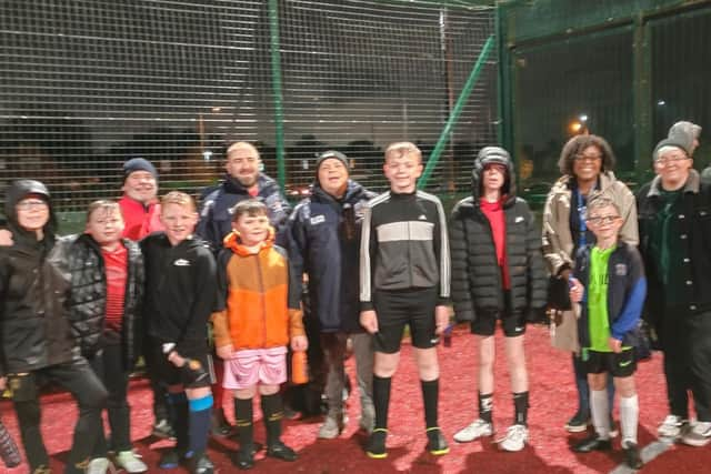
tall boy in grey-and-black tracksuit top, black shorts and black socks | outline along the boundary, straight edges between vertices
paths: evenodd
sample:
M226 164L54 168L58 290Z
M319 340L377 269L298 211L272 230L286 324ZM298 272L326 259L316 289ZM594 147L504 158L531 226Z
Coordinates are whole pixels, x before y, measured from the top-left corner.
M449 446L438 425L435 344L450 313L447 220L439 199L415 190L422 153L414 144L390 144L383 172L390 191L365 206L360 248L360 322L374 334L375 351L375 424L365 453L373 458L388 456L390 386L408 324L424 401L427 450L442 455Z

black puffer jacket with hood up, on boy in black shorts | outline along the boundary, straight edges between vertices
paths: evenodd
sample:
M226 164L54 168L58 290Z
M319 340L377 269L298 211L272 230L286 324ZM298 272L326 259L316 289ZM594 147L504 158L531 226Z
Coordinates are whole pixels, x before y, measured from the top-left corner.
M532 321L541 317L547 296L540 230L525 201L515 196L511 161L502 160L501 164L508 167L510 177L503 188L507 195L503 212L511 310ZM472 196L457 203L450 220L452 300L458 321L474 321L477 314L498 314L504 310L502 275L491 225L479 205L482 169L478 160L472 173Z

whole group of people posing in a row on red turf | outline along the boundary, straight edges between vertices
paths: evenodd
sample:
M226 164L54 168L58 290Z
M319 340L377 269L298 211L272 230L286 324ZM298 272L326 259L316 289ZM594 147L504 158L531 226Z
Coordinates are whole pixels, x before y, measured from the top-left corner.
M499 147L479 152L471 195L449 216L438 198L417 189L422 154L410 142L385 149L390 190L380 195L350 179L348 157L322 153L311 195L293 210L260 172L259 152L247 142L228 148L226 179L206 190L200 208L178 191L158 200L157 170L131 159L123 165L123 198L92 203L86 232L64 238L56 235L47 188L14 182L6 195L8 229L0 235L0 385L11 392L31 471L50 472L39 431L46 382L66 387L79 405L67 473L106 473L111 463L129 473L148 470L129 437L128 376L139 354L153 390L153 433L176 438L160 467L213 472L207 440L210 431L230 430L224 390L233 399L239 436L234 465L253 467L261 448L253 430L257 393L267 455L294 461L298 454L281 441L281 387L289 354L316 343L323 352L327 401L318 437L339 436L348 421L342 393L350 344L359 425L369 433L365 453L387 457L391 381L405 325L427 450L447 454L435 345L452 307L479 346L478 416L454 441L494 434L500 321L514 418L497 442L504 451L525 446L523 339L527 323L544 321L553 307L554 344L573 354L579 393L578 412L565 427L584 431L590 421L594 427L575 451L611 447L617 389L625 460L641 466L633 374L643 314L664 352L670 415L659 434L707 444L711 188L692 169L700 129L683 123L654 149L657 178L637 198L615 180L604 139L571 139L559 162L562 178L547 200L542 239L517 195L512 159ZM553 288L562 289L554 303ZM695 420L689 416L689 390Z

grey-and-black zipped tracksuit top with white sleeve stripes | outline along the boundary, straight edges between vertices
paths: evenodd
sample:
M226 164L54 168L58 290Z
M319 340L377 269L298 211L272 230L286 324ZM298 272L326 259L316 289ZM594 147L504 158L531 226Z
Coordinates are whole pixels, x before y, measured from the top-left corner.
M368 202L360 246L361 311L372 310L373 291L439 288L449 304L450 259L442 203L422 191L388 191Z

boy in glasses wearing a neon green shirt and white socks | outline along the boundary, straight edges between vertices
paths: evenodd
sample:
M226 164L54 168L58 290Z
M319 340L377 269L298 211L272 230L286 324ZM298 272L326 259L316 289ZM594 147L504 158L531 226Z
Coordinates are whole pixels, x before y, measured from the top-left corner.
M607 375L620 394L620 425L625 462L642 467L637 445L639 404L634 390L634 344L647 293L642 259L635 246L619 240L622 218L618 205L604 194L588 203L588 226L597 243L575 262L570 299L580 303L578 323L582 360L590 384L590 407L595 434L573 450L579 453L610 450L610 407Z

